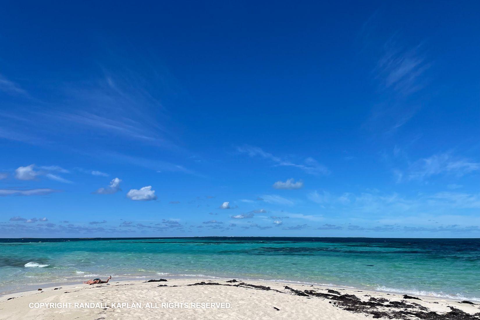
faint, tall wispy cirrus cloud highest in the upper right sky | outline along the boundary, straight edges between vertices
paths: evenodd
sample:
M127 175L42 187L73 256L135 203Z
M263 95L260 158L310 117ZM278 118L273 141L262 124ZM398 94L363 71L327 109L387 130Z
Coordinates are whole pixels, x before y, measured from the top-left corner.
M411 43L398 30L378 30L381 13L372 15L360 30L361 52L372 68L378 96L363 128L374 134L394 134L422 106L423 89L430 83L433 59L425 43ZM391 35L385 37L384 35Z

